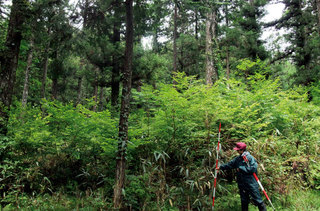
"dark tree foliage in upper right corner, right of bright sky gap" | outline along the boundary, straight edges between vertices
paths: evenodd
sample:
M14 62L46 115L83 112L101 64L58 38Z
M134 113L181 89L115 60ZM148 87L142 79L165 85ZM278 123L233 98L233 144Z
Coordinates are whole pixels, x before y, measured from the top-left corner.
M286 29L284 37L288 42L286 52L297 68L294 76L296 84L310 85L319 76L319 32L315 2L287 0L281 21L274 22L276 28ZM287 56L286 56L287 57Z

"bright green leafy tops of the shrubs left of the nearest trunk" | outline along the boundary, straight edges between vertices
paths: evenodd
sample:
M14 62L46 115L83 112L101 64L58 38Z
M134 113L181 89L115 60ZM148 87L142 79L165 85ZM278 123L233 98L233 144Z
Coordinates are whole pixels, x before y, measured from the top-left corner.
M112 148L116 124L108 111L95 113L82 105L74 108L73 104L49 101L44 101L41 109L16 109L19 110L12 111L9 122L14 130L9 135L14 135L16 144L24 145L26 150L28 146L32 147L30 150L41 150L42 146L51 145L57 151L71 150L79 157L82 150L97 150L97 144L105 150Z

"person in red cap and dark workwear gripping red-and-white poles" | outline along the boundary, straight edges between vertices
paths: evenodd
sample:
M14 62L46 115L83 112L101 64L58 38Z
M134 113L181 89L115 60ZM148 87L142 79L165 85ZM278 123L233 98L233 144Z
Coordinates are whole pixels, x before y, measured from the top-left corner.
M254 172L257 174L258 164L246 148L247 145L245 143L238 142L233 149L239 153L239 156L235 157L227 164L221 165L217 170L237 170L237 183L240 191L242 211L248 210L250 197L254 205L258 206L259 211L266 211L266 205L259 192L259 184L253 176ZM249 165L244 161L243 155L249 160Z

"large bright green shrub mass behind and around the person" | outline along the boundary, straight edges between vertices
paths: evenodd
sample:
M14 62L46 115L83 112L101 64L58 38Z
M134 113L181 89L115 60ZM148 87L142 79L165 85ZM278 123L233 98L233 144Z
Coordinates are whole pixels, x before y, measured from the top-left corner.
M157 150L168 154L167 170L163 164L161 170L171 179L164 200L187 206L190 197L194 208L210 206L206 197L212 187L212 149L216 142L211 136L216 136L219 122L223 124L222 145L228 155L223 155L223 160L231 159L229 149L235 141L248 143L266 170L260 175L271 195L285 194L298 184L317 187L314 161L319 160L319 148L315 128L320 110L307 102L304 89L284 91L279 88L279 80L266 80L260 74L248 77L247 85L221 80L211 88L184 74L177 74L175 80L174 87L161 85L153 91L154 96L152 88L145 87L139 97L141 102L153 99L143 108L153 118L146 122L142 117L142 124L133 126L147 135L141 140L153 140ZM150 161L152 154L142 152L138 157ZM297 169L292 168L294 163ZM306 166L313 170L305 171ZM174 190L182 192L176 194Z

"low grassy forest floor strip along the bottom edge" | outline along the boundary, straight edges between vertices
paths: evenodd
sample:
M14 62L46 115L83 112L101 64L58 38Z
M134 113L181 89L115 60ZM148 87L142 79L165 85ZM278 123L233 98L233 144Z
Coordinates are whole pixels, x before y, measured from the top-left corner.
M109 199L110 200L110 199ZM228 196L228 203L220 201L216 204L217 211L241 211L240 198L238 196ZM110 210L110 202L99 194L92 194L86 197L73 197L63 194L42 195L38 197L19 197L16 204L7 205L1 211L11 210ZM272 210L270 204L266 202L267 209ZM279 197L273 201L276 210L283 211L319 211L320 210L320 191L301 190L292 192L284 198ZM112 209L112 208L111 208ZM147 210L154 210L149 208ZM133 209L135 210L135 209ZM178 211L178 208L168 207L162 210ZM249 211L256 211L257 207L250 204Z

